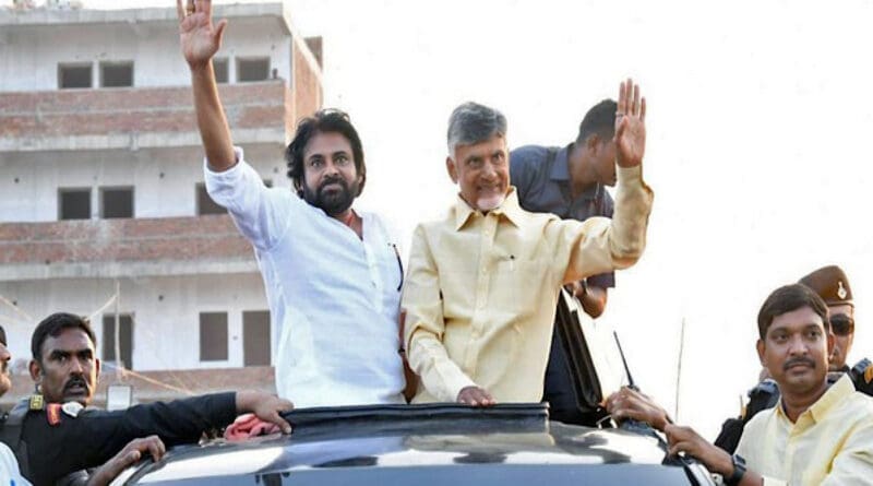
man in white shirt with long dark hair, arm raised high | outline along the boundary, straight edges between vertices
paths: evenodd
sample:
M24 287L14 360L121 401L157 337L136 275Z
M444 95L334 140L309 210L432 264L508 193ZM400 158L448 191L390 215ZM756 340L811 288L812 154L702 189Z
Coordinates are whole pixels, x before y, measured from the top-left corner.
M286 152L297 193L266 188L234 146L218 98L212 58L227 21L212 23L211 1L177 7L206 188L254 247L279 395L297 407L405 403L403 268L382 220L351 209L367 169L348 116L321 110L301 120Z

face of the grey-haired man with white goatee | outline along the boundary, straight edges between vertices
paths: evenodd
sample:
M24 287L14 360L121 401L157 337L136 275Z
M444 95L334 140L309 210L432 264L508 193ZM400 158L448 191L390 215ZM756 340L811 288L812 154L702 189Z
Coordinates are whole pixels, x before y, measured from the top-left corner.
M491 211L510 190L510 152L506 139L494 135L473 145L457 145L445 159L449 176L461 186L461 197L473 209Z

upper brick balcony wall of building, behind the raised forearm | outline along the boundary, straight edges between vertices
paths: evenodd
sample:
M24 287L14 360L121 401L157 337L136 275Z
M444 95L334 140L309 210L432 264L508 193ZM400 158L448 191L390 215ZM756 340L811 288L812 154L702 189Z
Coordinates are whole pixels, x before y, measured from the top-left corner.
M219 92L240 144L284 145L296 120L319 104L309 93L292 94L280 79L220 85ZM0 152L200 144L190 86L0 93Z

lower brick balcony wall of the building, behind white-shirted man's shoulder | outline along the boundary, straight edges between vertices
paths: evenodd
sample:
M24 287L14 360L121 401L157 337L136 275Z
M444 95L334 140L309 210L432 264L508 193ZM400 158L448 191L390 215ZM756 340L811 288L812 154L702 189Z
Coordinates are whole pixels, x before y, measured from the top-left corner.
M228 215L0 224L0 281L258 272Z

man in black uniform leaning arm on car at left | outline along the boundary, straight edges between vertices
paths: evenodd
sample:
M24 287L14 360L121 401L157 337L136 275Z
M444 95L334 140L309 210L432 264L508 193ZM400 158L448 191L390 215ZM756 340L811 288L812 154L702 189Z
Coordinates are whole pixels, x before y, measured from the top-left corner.
M252 412L290 431L279 415L291 408L290 402L254 391L117 412L88 408L99 371L95 342L88 322L70 313L51 315L34 331L29 369L37 393L10 413L3 440L15 451L23 475L36 486L53 485L71 473L99 466L139 438L155 435L169 447L194 443L204 431L229 425L240 413ZM159 455L160 448L154 447L150 442L139 451Z

